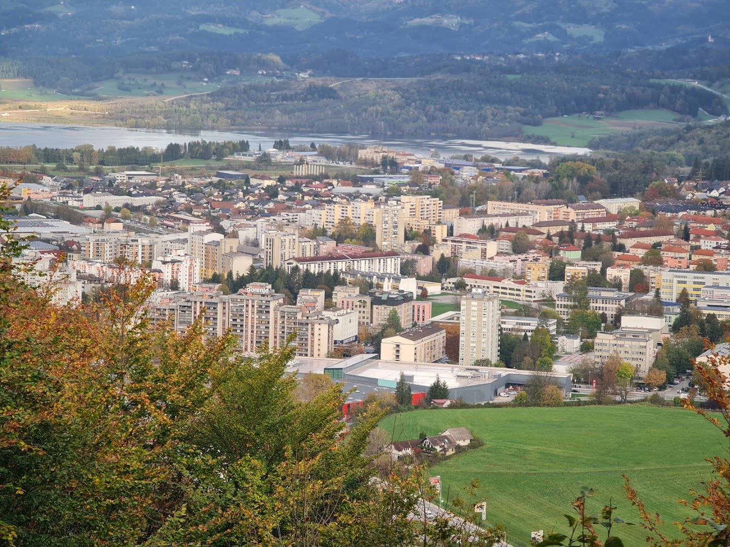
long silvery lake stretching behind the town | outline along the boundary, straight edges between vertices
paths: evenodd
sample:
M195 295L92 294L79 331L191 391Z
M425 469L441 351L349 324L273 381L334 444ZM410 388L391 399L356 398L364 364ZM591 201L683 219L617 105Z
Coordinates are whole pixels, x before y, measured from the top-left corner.
M258 144L266 150L274 139L289 139L291 144L383 144L393 150L407 150L427 156L431 150L447 157L457 154L484 154L500 160L508 158L540 158L549 160L553 155L588 154L588 148L557 147L548 144L528 144L510 141L475 141L468 139L372 139L370 136L294 133L287 131L166 131L160 129L130 129L103 125L53 125L31 123L2 123L0 121L0 146L20 147L35 144L37 147L73 148L79 144L93 144L95 148L155 147L164 148L170 142L205 139L228 141L245 139L251 150Z

